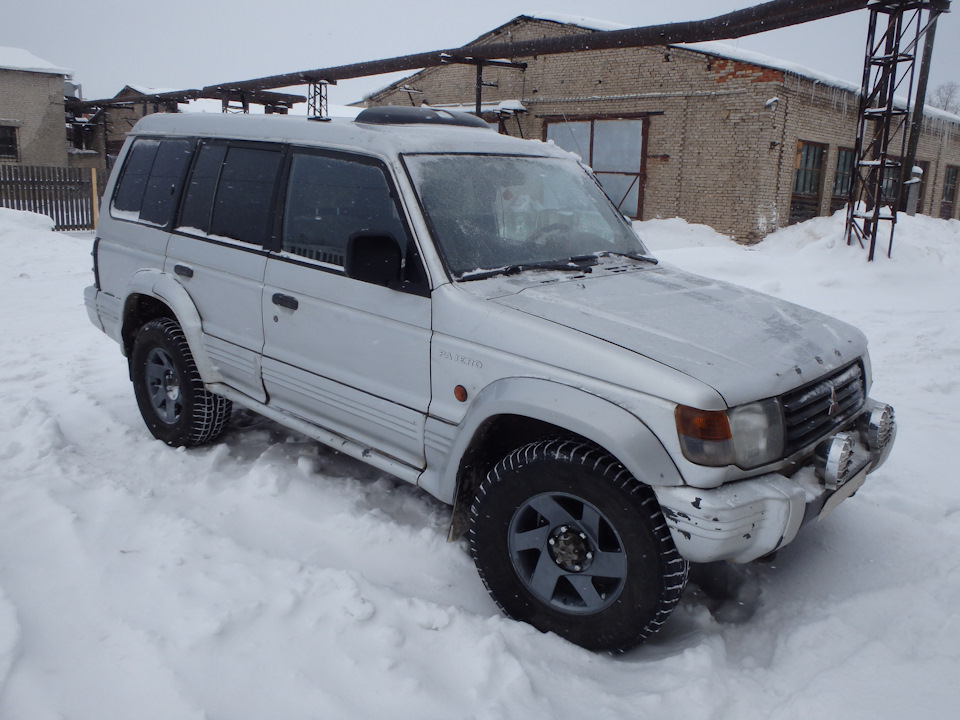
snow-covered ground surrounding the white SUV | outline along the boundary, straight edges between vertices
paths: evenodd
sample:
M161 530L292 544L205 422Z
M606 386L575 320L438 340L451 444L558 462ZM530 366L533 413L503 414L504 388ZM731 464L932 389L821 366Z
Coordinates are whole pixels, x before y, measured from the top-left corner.
M90 236L0 209L0 718L954 716L960 222L902 217L872 264L842 225L745 248L640 224L666 262L863 329L900 433L776 562L700 569L610 657L501 617L415 488L246 414L153 440L83 308Z

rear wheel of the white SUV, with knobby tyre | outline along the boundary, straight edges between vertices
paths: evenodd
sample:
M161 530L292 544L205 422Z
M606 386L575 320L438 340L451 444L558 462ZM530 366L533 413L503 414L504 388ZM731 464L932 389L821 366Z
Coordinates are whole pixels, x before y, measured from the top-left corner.
M204 387L176 320L158 318L140 328L130 367L140 414L154 437L192 447L226 429L232 403Z

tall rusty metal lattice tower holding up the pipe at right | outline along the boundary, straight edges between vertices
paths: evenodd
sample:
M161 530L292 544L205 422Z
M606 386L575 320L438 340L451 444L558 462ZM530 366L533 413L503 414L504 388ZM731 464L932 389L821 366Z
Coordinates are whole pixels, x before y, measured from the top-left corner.
M923 121L926 72L937 17L949 0L876 0L869 5L870 23L860 90L860 115L854 158L854 178L847 206L847 244L869 244L873 260L881 228L889 229L887 256L900 209L903 180L909 177L916 153L910 137ZM914 104L916 56L925 41L924 67ZM896 97L897 94L902 97ZM909 151L908 151L909 147Z

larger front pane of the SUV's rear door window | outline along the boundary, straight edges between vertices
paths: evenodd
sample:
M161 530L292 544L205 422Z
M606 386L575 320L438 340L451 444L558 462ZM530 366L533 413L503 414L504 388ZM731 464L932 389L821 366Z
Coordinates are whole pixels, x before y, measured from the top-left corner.
M257 245L269 237L270 207L280 170L280 149L230 147L213 203L211 235Z

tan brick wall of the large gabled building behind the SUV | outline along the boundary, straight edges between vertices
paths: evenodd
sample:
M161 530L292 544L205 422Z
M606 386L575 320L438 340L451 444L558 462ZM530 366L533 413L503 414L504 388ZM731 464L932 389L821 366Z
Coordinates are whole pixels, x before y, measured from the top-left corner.
M582 28L518 18L477 43L574 35ZM484 102L521 100L511 135L542 139L547 122L647 117L644 219L679 216L756 242L790 216L798 141L823 143L820 213L830 209L838 148L854 145L854 93L781 70L677 47L623 48L524 58L526 71L484 68ZM368 105L472 110L476 70L429 68L368 98ZM400 86L423 94L410 95ZM768 101L777 98L776 103ZM960 124L928 121L918 160L930 163L922 208L936 215L944 167L960 165ZM933 198L936 208L932 209ZM958 198L960 200L960 198ZM960 202L956 203L960 206Z

